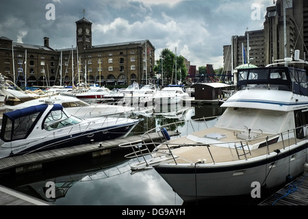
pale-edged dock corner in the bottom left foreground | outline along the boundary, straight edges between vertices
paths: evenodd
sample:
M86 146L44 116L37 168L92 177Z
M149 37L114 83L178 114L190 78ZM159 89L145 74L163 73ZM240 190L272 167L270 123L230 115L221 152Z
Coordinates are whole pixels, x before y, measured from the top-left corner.
M0 185L0 205L51 205L51 203Z

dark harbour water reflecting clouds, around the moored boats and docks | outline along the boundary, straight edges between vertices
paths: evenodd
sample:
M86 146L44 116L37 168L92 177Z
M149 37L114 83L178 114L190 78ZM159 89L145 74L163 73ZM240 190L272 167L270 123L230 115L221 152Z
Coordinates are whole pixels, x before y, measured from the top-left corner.
M142 121L132 134L178 120L219 116L224 109L214 105L170 107L136 115ZM159 112L159 113L157 113ZM177 113L176 113L177 112ZM183 122L185 123L185 122ZM131 152L131 151L129 151ZM55 205L190 205L172 191L155 170L131 173L127 151L118 151L96 159L77 157L45 165L43 170L23 175L0 175L0 184L30 194ZM45 194L47 182L55 183L56 198ZM219 203L219 201L218 201ZM195 204L195 203L193 203ZM198 204L207 204L198 202Z

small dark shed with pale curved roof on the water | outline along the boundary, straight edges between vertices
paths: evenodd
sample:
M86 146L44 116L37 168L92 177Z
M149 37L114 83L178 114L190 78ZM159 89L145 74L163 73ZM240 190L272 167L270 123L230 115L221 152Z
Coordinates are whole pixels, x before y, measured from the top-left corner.
M195 83L194 99L195 100L216 100L224 98L224 91L234 90L233 85L227 83ZM225 92L227 94L227 92Z

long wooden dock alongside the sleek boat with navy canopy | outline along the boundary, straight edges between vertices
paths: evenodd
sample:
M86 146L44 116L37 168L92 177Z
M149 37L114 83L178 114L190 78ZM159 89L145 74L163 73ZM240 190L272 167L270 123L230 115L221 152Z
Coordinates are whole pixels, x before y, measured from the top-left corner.
M169 133L170 136L175 136L176 133ZM162 141L162 135L152 133L151 138L157 142ZM145 142L149 142L148 138ZM29 153L27 155L20 155L14 157L5 157L0 159L0 172L12 171L15 173L30 172L42 169L42 165L47 162L56 162L60 159L77 157L79 155L88 155L89 157L100 157L109 155L115 151L125 150L118 145L126 142L141 141L141 136L128 136L116 140L107 140L103 142L95 142L92 144L81 144L77 146L70 146L63 149L53 149L49 151L42 151L37 153ZM130 150L131 148L126 149Z

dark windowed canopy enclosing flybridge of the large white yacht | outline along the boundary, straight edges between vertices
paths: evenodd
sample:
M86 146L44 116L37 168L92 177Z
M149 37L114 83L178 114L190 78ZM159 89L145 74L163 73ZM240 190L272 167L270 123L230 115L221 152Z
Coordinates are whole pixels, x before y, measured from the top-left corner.
M238 69L238 89L254 88L292 91L308 96L306 71L288 67Z

